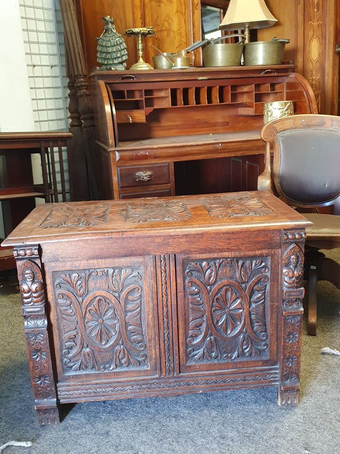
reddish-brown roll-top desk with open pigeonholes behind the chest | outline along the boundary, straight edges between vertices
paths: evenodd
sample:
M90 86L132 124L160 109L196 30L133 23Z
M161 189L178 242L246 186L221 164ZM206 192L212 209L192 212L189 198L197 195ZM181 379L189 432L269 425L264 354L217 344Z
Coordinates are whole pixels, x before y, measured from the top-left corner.
M221 181L225 178L227 183L216 192L256 189L265 148L259 137L264 103L292 100L296 113L316 112L311 87L293 70L293 65L280 65L93 72L102 197L144 197L160 190L180 194L175 187L179 165L174 164L194 159L224 159L226 174ZM157 184L149 167L144 169L161 162L170 166L165 186ZM191 175L183 164L180 179L187 180L189 191L204 192L204 181L214 179L202 170L208 169L206 164L197 161L196 168L192 164ZM247 172L245 166L250 164L252 171ZM127 187L118 174L130 165L139 169L133 186ZM242 172L246 177L240 182ZM192 182L198 179L201 185L195 186ZM210 192L214 192L211 185Z

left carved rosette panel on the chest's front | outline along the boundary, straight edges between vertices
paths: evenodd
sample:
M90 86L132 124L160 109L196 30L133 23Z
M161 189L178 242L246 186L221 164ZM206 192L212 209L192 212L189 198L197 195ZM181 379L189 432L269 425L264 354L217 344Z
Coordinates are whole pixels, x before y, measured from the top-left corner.
M65 374L149 367L142 267L53 272Z

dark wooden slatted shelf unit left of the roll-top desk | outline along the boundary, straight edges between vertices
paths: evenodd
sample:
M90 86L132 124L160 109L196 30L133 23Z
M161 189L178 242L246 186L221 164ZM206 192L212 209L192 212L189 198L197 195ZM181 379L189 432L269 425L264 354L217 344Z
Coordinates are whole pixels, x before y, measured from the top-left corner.
M66 131L0 133L0 203L5 237L35 208L36 197L47 203L65 202L68 194L72 199L71 182L70 189L65 185L62 156L71 138ZM33 154L40 155L41 184L33 183ZM13 267L13 249L7 248L0 255L0 270Z

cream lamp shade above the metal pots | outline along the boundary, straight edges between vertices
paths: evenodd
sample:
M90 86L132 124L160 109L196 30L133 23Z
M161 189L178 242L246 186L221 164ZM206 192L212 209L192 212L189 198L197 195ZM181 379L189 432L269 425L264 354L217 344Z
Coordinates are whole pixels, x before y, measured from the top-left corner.
M228 10L220 24L220 29L264 28L274 25L278 20L270 13L264 0L230 0Z

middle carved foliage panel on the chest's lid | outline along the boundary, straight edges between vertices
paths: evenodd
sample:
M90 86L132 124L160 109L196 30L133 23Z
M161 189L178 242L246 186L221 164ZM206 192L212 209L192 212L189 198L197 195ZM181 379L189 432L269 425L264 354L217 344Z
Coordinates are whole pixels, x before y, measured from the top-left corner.
M180 200L127 203L121 213L125 222L178 221L191 217L186 203Z

